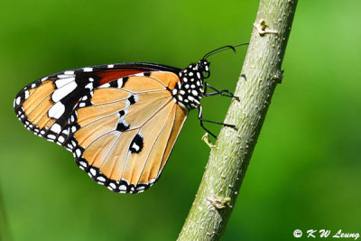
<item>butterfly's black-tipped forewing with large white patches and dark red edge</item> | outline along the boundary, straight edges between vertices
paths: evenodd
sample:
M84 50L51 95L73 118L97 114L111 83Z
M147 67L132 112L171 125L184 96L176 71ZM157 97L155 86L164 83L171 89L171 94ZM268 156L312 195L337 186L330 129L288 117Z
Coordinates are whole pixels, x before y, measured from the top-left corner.
M59 72L23 88L14 99L15 114L33 134L69 149L68 120L80 97L87 102L94 88L151 70L178 71L157 64L127 63Z

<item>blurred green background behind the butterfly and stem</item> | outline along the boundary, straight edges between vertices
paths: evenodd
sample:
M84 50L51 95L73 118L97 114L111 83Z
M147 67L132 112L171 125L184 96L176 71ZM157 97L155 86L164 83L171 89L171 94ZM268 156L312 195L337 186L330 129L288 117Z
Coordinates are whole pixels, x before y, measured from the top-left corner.
M3 1L0 8L0 187L14 240L174 240L209 149L190 113L151 190L106 190L71 153L28 132L13 99L61 70L150 61L185 67L248 42L258 1ZM223 240L290 240L296 228L361 232L359 1L300 1L255 153ZM234 89L246 47L211 59L216 88ZM230 100L202 102L222 120ZM209 126L209 125L208 125ZM210 126L218 132L218 126Z

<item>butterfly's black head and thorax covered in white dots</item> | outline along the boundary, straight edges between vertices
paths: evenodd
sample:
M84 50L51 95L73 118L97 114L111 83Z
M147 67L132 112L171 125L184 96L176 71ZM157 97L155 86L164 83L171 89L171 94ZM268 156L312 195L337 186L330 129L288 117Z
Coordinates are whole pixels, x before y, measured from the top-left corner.
M179 73L180 81L171 94L175 101L188 109L198 108L200 98L203 97L204 75L209 74L209 62L200 60L198 63L190 64Z

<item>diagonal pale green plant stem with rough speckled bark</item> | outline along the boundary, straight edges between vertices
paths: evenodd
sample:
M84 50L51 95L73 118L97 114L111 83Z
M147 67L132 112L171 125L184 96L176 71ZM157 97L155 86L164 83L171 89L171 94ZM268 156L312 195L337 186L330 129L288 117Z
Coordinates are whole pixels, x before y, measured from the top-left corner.
M212 148L188 218L178 240L218 240L226 230L245 171L260 134L274 88L282 80L282 60L297 0L261 0L255 27L228 109Z

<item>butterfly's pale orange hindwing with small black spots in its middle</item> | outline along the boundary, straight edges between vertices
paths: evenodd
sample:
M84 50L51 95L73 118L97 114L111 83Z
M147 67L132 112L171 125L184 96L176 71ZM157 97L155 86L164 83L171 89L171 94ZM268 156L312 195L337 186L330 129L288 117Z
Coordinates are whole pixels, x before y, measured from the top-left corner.
M81 98L69 117L69 149L79 167L116 192L152 186L188 115L171 96L179 80L153 71L116 79Z

